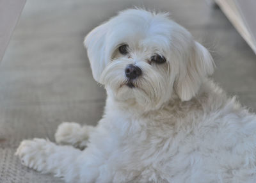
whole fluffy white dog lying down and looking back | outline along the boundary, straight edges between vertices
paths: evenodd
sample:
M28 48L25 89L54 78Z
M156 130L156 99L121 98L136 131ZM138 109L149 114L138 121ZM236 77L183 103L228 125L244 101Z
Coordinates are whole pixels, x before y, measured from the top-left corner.
M211 55L168 14L125 10L84 45L104 115L62 123L65 145L22 141L25 166L74 183L256 182L256 116L207 78Z

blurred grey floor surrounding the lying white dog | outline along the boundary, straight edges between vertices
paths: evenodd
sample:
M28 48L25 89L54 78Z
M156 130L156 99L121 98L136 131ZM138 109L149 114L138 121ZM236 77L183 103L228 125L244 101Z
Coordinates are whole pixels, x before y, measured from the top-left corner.
M15 148L26 138L53 140L62 121L97 123L106 95L92 79L83 38L132 6L171 12L211 50L214 79L256 111L256 56L204 0L27 0L0 67L0 182L61 182L21 166Z

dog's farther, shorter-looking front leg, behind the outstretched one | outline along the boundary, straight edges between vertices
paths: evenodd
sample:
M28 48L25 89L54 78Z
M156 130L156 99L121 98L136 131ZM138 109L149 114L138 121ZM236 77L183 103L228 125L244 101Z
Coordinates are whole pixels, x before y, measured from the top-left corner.
M90 132L94 131L95 127L79 123L63 122L58 126L55 133L56 143L62 145L72 145L76 148L83 149L88 143Z

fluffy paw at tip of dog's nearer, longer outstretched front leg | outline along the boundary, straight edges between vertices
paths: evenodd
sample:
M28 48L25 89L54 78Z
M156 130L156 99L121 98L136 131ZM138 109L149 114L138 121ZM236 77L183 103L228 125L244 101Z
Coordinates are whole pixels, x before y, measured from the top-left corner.
M24 140L20 143L15 155L19 156L25 166L42 171L45 168L49 143L51 142L45 139Z

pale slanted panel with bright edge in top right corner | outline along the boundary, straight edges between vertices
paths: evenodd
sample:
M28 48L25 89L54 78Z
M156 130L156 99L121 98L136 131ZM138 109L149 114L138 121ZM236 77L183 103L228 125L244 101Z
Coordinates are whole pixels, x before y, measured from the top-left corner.
M215 1L256 54L256 1Z

